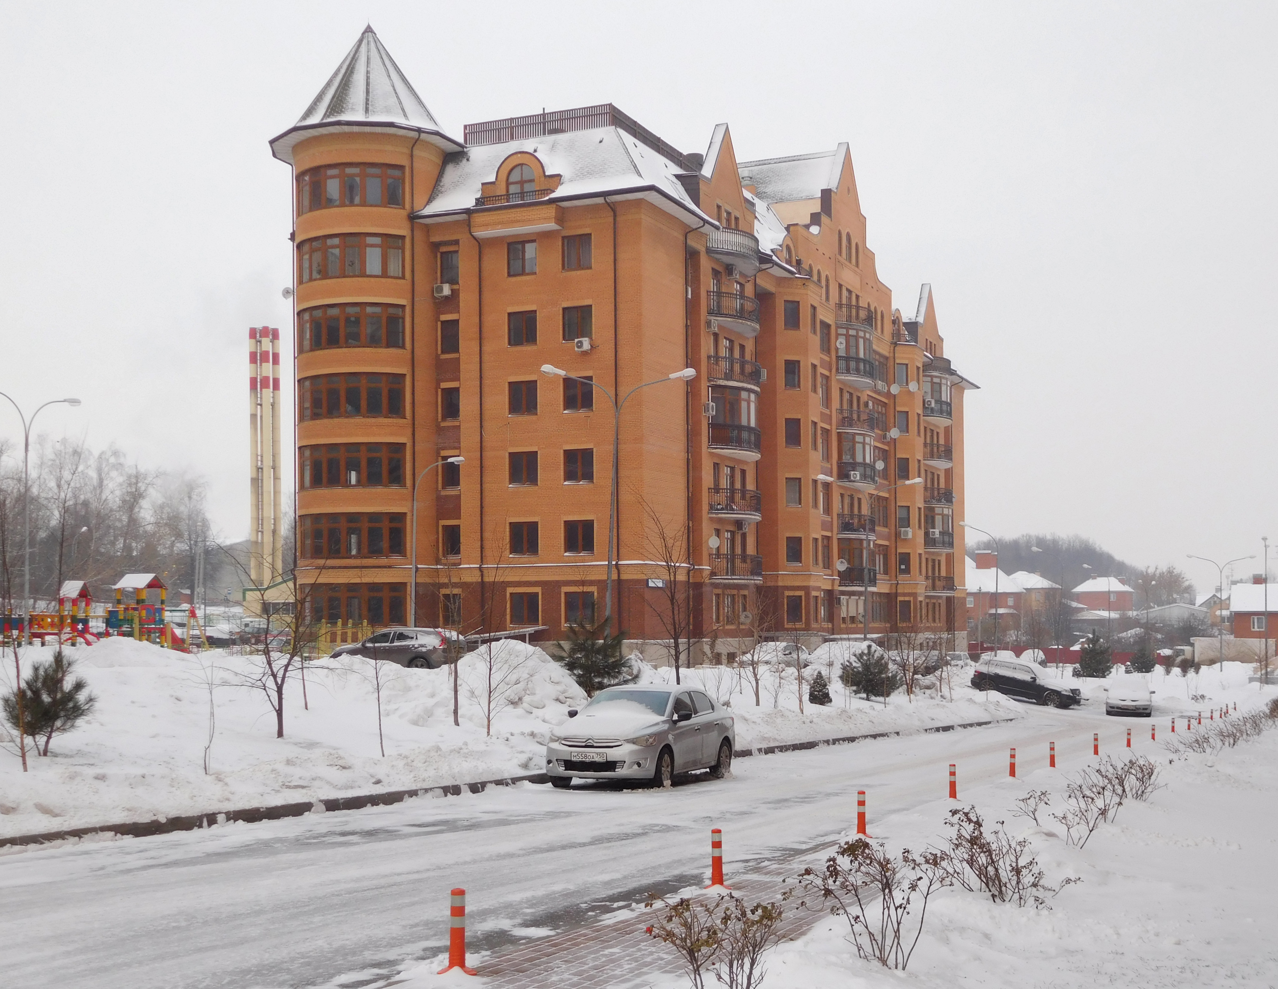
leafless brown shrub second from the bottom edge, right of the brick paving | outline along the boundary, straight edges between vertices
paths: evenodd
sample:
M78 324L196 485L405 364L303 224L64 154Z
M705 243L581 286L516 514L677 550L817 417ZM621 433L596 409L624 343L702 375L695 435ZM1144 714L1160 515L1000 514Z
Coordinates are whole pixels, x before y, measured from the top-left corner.
M882 842L856 838L841 845L824 869L809 866L796 882L797 888L786 892L787 900L819 894L819 908L847 921L849 940L861 958L904 970L923 934L929 897L951 880L935 852L915 856L902 848L895 857ZM799 905L808 906L808 900ZM910 920L911 905L920 905L918 921Z

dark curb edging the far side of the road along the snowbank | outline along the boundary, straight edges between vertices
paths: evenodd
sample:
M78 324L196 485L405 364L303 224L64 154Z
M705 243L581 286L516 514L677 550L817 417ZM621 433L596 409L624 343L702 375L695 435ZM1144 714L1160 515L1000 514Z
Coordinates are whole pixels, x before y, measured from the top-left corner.
M815 741L786 742L782 745L757 745L751 749L737 749L734 758L744 759L748 755L772 755L774 753L792 753L804 749L817 749L822 745L847 745L855 741L870 739L892 739L901 735L932 733L941 731L956 731L957 728L979 728L987 724L1002 724L1015 718L998 718L996 721L971 721L962 724L937 724L930 728L904 728L901 731L877 731L868 735L845 735L837 739L818 739ZM349 797L326 797L323 800L303 800L295 804L275 804L272 806L243 808L240 810L220 810L207 814L184 814L173 818L129 822L125 824L96 824L83 828L66 828L64 831L46 831L41 834L15 834L0 838L0 848L19 845L43 845L51 841L65 841L68 838L83 838L89 834L119 834L127 838L146 838L153 834L169 834L175 831L199 831L216 824L230 824L242 822L253 824L259 820L280 820L282 818L300 818L303 814L323 813L327 810L359 810L362 808L385 806L387 804L400 804L409 797L419 796L461 796L463 787L472 793L482 793L491 786L514 786L515 783L547 783L550 778L546 773L528 773L525 776L506 776L497 779L481 779L474 783L449 783L446 786L413 787L412 790L389 790L382 793L362 793Z

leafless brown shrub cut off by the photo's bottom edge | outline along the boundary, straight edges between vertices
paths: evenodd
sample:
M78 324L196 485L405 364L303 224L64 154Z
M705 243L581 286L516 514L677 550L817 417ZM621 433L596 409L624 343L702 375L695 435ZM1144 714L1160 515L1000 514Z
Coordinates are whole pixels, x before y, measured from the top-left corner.
M680 898L649 896L647 907L665 907L647 929L648 935L670 944L684 962L693 989L704 989L705 974L728 989L758 989L763 981L763 953L780 939L782 908L777 903L755 903L732 893L713 905Z

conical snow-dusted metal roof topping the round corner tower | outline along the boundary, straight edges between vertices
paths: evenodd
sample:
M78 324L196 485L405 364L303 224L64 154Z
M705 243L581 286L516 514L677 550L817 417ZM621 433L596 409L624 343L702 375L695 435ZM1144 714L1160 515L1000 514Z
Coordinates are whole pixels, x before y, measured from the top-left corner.
M271 141L271 151L275 157L291 161L299 141L357 128L409 130L446 151L461 148L461 142L440 129L372 27L364 28L298 123Z

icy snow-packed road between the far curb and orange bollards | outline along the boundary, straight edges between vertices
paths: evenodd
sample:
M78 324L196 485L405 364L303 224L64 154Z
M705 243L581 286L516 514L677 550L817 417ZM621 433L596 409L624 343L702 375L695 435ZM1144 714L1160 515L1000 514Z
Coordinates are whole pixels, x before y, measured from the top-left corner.
M708 871L709 829L725 868L819 847L855 822L965 785L1062 770L1117 754L1149 721L1022 705L1021 721L939 735L740 759L732 778L672 791L521 785L391 808L314 814L155 838L0 856L4 981L60 989L318 986L373 981L446 944L447 893L465 887L473 951L564 930L648 891ZM1166 730L1159 719L1159 733ZM363 974L364 977L359 977Z

